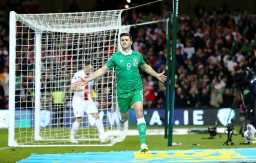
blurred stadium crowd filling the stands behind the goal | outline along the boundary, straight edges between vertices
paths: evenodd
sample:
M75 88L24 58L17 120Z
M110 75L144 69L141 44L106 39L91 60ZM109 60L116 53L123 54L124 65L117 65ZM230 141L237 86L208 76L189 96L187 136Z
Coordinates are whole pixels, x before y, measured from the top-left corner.
M21 4L7 2L0 1L1 109L8 109L9 11L29 12L22 10ZM166 19L167 12L172 11L172 2L167 1L161 12L151 12L152 7L124 11L122 24ZM78 6L72 7L72 12L76 10L80 10ZM212 7L209 11L205 10L204 5L198 4L194 10L193 16L188 16L184 12L180 12L178 16L174 107L231 107L235 94L234 75L237 70L250 67L252 71L256 71L255 14L241 11L239 8L229 11L224 3L219 9ZM134 42L132 49L140 52L147 64L157 72L165 70L167 61L165 22L139 25L131 28L130 31ZM17 62L22 63L22 67L20 64L16 67L17 81L21 80L21 69L33 69L34 65L33 56L20 60L22 55L17 53ZM158 82L142 70L140 73L143 79L144 107L163 108L165 83ZM33 72L28 71L27 76L22 76L22 80L31 84L34 80L33 76ZM19 94L22 96L16 98L16 107L33 107L33 85L17 85L17 88L20 88L17 91L21 91L22 93Z

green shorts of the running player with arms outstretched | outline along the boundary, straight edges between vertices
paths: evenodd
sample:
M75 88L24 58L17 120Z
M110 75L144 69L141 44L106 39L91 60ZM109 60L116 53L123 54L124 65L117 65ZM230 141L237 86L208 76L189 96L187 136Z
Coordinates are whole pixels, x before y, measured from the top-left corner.
M135 89L128 93L117 94L117 103L120 108L120 113L126 113L131 108L131 105L137 101L143 102L143 89Z

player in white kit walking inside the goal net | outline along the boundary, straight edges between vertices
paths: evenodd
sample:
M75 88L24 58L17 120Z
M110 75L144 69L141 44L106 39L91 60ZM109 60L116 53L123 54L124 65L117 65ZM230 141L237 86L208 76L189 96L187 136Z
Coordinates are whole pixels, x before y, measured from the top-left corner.
M72 107L74 111L74 116L76 117L76 120L72 124L70 132L71 143L78 143L78 141L75 139L75 134L80 126L80 123L83 120L84 111L87 114L93 115L93 117L95 118L95 126L98 129L100 141L102 143L109 141L109 136L105 133L102 120L99 117L98 109L93 102L93 99L91 98L91 93L93 91L93 81L87 83L87 85L84 85L82 87L74 86L74 82L76 80L80 80L78 76L84 76L84 78L87 78L92 74L91 72L93 72L93 69L94 68L91 62L87 61L85 62L83 70L76 72L71 80L71 90L74 91L74 95L72 97Z

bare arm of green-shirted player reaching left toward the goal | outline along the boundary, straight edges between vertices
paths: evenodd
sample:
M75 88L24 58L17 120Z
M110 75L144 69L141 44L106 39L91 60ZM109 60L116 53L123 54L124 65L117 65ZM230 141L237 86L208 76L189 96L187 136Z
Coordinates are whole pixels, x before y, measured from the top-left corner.
M102 68L96 70L91 76L89 76L86 79L82 76L78 76L78 78L80 78L80 80L77 80L75 82L75 86L81 87L81 86L87 84L88 82L91 82L92 80L95 80L96 78L104 75L108 70L109 70L108 66L105 65Z

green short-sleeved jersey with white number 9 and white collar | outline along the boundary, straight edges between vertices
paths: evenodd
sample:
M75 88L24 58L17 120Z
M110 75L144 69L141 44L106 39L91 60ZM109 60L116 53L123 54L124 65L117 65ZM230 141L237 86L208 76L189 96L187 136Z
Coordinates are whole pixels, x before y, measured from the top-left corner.
M141 76L138 67L144 65L141 54L132 51L126 56L121 52L115 52L107 62L107 66L115 68L117 76L117 93L126 93L142 87Z

